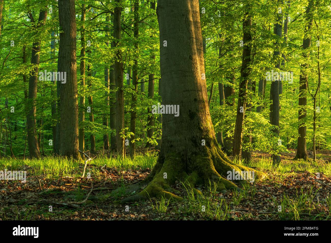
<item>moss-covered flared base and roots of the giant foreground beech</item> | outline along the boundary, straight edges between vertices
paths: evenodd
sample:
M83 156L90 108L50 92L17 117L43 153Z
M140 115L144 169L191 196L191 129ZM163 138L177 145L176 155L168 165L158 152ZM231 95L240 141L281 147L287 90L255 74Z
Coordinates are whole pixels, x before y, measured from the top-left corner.
M254 171L255 180L263 179L266 175L252 168L238 165L228 159L224 153L216 148L208 149L204 156L195 156L189 163L176 154L167 154L164 159L159 159L152 173L140 185L147 184L146 188L139 193L126 197L118 203L135 202L148 200L152 197L167 198L170 200L181 201L182 197L175 195L171 186L176 180L180 180L184 185L193 188L196 194L200 191L194 189L196 185L209 185L215 183L217 191L240 190L236 184L227 180L227 172L235 170L243 176L242 171ZM245 178L243 176L243 178ZM248 183L248 180L239 180L240 184ZM135 185L135 184L134 184ZM137 189L134 186L134 189ZM133 191L126 189L126 191Z

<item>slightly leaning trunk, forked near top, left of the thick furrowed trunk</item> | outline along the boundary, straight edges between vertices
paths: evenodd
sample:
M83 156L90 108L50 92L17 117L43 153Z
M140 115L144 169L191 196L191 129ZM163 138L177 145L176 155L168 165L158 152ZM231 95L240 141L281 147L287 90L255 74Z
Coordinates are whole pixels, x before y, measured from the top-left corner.
M45 25L47 17L47 11L40 11L38 23L34 23L32 14L30 13L30 18L32 24L35 24L35 29L40 26ZM31 64L33 65L32 72L29 78L29 109L26 116L27 124L27 145L29 150L30 158L40 158L37 131L36 131L36 98L37 98L37 83L38 83L38 73L39 73L39 60L40 60L40 42L33 42L32 53L31 53Z

